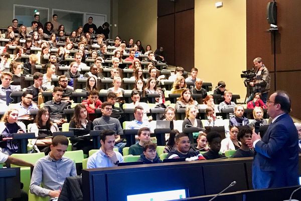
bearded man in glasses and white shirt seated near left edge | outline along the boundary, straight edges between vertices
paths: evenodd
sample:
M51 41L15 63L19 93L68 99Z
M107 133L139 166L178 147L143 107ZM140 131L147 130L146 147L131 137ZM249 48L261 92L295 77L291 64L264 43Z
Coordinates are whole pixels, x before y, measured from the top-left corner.
M38 107L36 104L32 103L33 94L31 91L24 91L22 93L21 97L22 101L14 107L14 109L17 109L19 111L18 120L31 120L32 117L30 117L30 111L31 110L38 110Z

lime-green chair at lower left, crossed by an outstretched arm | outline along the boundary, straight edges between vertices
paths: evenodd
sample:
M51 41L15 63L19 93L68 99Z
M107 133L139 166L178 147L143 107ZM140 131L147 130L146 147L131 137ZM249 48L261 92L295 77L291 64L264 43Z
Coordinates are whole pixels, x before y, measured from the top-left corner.
M41 153L32 153L32 154L12 154L12 157L25 160L29 163L36 163L40 158L45 156L44 152ZM18 165L11 164L11 167L21 167ZM29 191L29 185L30 185L30 167L21 167L20 168L20 178L21 182L24 184L23 190L25 192Z

